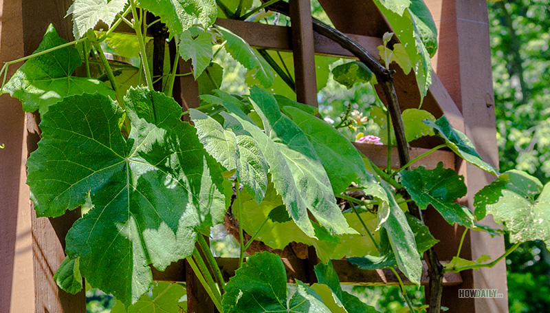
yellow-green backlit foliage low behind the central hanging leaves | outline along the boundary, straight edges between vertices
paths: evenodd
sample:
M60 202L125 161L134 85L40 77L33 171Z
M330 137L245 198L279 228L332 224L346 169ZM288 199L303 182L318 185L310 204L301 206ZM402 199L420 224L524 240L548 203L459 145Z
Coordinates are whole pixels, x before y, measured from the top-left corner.
M374 253L376 250L371 238L365 235L366 230L360 219L354 213L345 213L344 217L346 217L349 226L357 230L359 234L331 236L325 228L314 223L314 233L317 239L307 236L290 219L274 221L272 215L277 213L281 206L283 206L286 217L288 217L288 213L283 205L283 199L277 195L272 182L267 185L265 199L261 204L254 201L254 198L248 193L243 193L242 203L243 228L249 234L254 234L259 230L257 239L271 248L284 249L292 241L301 242L308 246L314 246L319 259L324 262L329 259L342 259L342 257L362 257ZM369 229L376 228L375 215L369 212L360 213L360 215ZM264 222L265 225L260 229ZM375 238L377 238L376 233Z

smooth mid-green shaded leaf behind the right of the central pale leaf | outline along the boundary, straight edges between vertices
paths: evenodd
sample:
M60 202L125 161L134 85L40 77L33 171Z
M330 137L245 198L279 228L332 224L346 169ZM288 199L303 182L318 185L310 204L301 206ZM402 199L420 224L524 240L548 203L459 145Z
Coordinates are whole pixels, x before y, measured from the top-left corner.
M324 120L295 107L285 107L283 111L296 122L313 145L335 194L344 192L351 182L364 187L378 185L373 173L366 171L360 152L342 133Z

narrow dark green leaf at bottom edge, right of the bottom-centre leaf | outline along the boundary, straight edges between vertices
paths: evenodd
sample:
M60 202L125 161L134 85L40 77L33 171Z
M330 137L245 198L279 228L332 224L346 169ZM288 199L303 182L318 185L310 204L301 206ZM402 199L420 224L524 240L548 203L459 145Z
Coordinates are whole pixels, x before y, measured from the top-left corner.
M349 313L369 313L369 312L378 312L371 305L366 305L357 296L353 296L348 292L342 290L340 286L340 279L338 279L338 274L334 270L331 261L325 265L324 263L318 263L315 268L315 274L319 283L328 285L332 292L338 297L341 303L344 305L344 308Z

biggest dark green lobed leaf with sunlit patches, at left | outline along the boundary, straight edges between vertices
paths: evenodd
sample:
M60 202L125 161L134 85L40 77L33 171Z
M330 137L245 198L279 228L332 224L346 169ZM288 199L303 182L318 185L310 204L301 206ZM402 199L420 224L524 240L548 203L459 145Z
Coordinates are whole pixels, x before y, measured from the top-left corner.
M164 270L188 257L195 232L223 221L230 188L173 99L140 88L125 100L127 139L123 112L105 96L50 107L27 165L39 216L61 215L91 197L94 208L67 233L67 255L80 257L91 285L129 304L148 290L150 263Z

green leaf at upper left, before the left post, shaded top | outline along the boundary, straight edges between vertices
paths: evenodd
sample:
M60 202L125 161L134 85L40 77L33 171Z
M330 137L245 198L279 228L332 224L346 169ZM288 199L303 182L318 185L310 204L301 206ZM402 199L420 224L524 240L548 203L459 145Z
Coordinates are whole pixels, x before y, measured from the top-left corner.
M39 48L42 52L67 43L57 34L50 24ZM2 93L9 92L12 97L23 102L23 110L32 112L61 101L64 97L98 92L111 98L115 93L100 80L71 76L76 67L82 64L80 55L74 47L64 47L41 56L31 58L23 64L5 84Z

